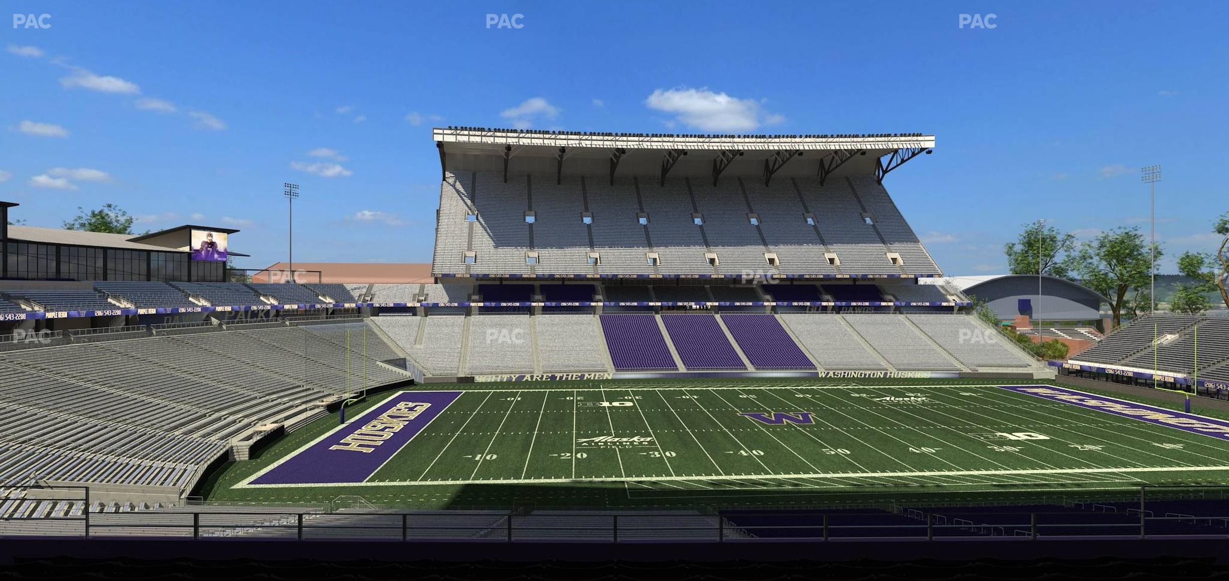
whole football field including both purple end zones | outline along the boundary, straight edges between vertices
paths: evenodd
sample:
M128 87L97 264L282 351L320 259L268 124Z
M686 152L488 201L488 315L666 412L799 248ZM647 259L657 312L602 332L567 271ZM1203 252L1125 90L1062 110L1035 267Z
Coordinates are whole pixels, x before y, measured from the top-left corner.
M592 382L381 394L230 484L705 493L1224 483L1229 421L1052 386Z

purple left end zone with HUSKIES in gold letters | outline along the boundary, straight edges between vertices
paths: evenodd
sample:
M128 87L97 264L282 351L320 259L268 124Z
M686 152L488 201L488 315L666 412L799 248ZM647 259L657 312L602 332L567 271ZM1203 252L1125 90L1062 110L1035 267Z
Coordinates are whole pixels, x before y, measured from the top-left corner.
M462 392L404 392L301 450L251 484L361 483Z

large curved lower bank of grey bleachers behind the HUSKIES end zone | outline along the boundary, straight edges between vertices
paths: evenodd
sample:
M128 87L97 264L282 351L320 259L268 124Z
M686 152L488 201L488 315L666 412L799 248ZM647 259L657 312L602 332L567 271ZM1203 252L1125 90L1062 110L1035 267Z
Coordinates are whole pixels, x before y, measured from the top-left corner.
M365 335L347 351L345 332ZM0 482L171 486L232 440L353 389L406 381L365 322L203 332L0 354Z

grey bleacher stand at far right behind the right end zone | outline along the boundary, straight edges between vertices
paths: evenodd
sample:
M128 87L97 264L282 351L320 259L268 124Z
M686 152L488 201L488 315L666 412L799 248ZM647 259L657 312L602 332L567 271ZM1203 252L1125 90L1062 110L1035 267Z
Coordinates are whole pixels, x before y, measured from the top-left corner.
M1229 381L1229 319L1145 314L1105 335L1074 360Z

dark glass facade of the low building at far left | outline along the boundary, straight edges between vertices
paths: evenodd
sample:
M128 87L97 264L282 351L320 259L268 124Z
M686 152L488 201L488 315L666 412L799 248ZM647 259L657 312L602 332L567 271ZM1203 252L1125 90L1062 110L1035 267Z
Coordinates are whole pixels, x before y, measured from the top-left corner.
M150 280L224 283L226 264L193 262L186 252L128 251L10 241L4 276L10 279Z

